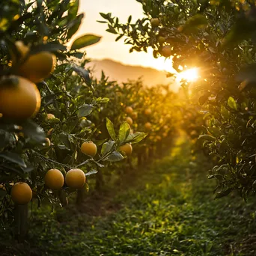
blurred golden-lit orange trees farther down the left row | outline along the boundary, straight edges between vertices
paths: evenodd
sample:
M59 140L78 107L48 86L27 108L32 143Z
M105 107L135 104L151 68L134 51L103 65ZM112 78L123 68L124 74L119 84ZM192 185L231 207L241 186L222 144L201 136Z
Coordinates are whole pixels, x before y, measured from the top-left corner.
M144 143L133 148L133 154L137 159L135 161L133 157L130 162L141 165L148 160L149 155L160 156L162 147L170 145L169 142L177 127L174 109L177 94L164 85L147 88L140 80L118 85L109 82L104 74L97 82L97 86L101 86L102 89L99 91L104 91L112 106L112 109L103 109L99 113L99 118L104 119L108 116L115 124L127 121L134 134L138 131L148 134ZM100 136L104 137L103 129L101 132Z

